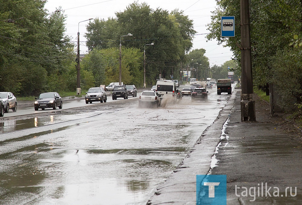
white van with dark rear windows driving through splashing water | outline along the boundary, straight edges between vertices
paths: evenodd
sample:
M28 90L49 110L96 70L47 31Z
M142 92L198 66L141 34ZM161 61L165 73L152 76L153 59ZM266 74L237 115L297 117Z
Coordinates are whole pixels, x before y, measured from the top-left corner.
M160 98L175 98L176 100L176 83L170 80L158 80L156 82L156 91Z

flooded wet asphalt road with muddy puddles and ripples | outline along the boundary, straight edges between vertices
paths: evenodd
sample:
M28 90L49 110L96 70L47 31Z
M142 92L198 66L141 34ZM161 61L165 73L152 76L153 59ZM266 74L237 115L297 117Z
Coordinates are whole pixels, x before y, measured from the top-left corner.
M0 204L146 204L226 98L214 88L207 103L129 98L3 119Z

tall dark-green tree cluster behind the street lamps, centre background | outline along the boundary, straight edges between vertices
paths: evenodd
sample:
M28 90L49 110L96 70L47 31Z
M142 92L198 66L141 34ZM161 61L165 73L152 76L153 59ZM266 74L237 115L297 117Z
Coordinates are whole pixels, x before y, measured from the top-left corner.
M87 43L89 47L93 50L110 49L112 46L119 49L118 46L121 43L123 48L136 48L141 51L141 54L146 49L146 83L148 85L153 85L160 73L163 78L170 79L170 75L174 75L175 78L179 77L180 62L185 59L185 53L192 48L192 39L196 33L193 29L193 20L177 9L169 13L161 8L153 10L146 3L139 4L138 2L128 5L124 11L116 12L116 16L116 19L110 18L107 21L95 19L88 24L88 32L85 35L90 42ZM121 37L128 33L133 36ZM149 43L154 43L154 46L145 46ZM122 63L126 62L126 57L122 58ZM140 69L137 69L138 67ZM123 71L123 75L129 78L123 77L122 81L142 85L142 68L142 61L140 61L140 66L130 66L129 73L127 69ZM116 78L114 68L109 68L107 71L113 75L107 76L106 79L114 82L113 79ZM135 72L137 74L134 74Z

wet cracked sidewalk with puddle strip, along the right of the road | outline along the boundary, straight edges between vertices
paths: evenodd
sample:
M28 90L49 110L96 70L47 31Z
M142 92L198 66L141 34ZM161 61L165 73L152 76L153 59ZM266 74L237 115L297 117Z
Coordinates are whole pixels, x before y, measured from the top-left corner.
M215 122L202 133L174 173L157 187L148 205L196 204L196 175L206 174L227 175L228 205L302 204L300 131L284 123L280 116L270 117L269 104L258 97L257 122L241 122L240 91L233 90ZM271 197L265 197L265 183L267 189L271 187ZM277 187L279 197L273 196ZM286 187L292 187L293 195L297 187L297 195L291 197L288 189L285 197Z

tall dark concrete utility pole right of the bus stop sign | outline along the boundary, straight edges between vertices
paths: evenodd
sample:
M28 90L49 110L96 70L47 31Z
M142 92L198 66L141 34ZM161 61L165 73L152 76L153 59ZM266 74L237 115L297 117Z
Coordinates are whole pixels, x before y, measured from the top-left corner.
M249 0L240 0L241 28L241 122L256 121L255 101L252 99L252 54L249 23Z

